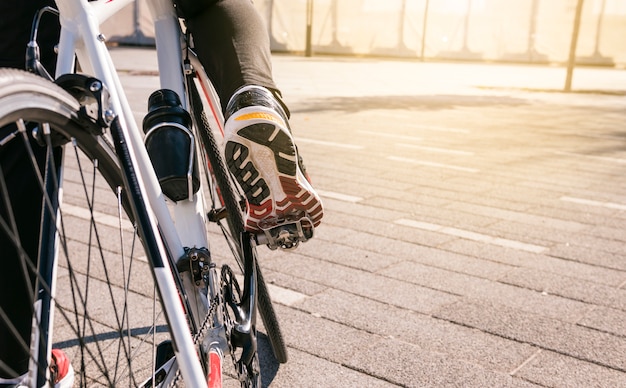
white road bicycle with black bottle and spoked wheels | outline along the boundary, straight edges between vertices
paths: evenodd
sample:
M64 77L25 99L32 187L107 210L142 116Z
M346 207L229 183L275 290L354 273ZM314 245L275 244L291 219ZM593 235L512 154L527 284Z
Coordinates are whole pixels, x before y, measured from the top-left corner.
M0 152L23 147L43 193L37 257L20 246L11 211L0 219L32 284L31 340L21 344L30 353L28 383L53 385L55 346L68 353L80 386L218 387L230 354L226 372L258 387L257 309L278 362L287 350L256 247L293 248L312 237L313 223L300 215L262 233L245 230L246 202L223 160L219 101L171 0L153 0L161 89L151 102L179 98L165 124L189 149L164 194L99 32L131 1L57 0L58 10L42 10L33 23L30 73L0 70L0 128L11 128L0 134ZM60 15L62 26L55 77L37 58L45 12ZM183 112L190 125L172 119ZM163 123L151 124L146 141ZM3 173L0 198L9 203ZM0 321L9 318L0 311Z

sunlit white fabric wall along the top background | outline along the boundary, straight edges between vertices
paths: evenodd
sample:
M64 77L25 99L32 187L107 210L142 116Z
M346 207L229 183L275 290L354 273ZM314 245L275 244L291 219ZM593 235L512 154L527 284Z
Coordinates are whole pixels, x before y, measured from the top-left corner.
M111 40L149 44L138 1L105 26ZM255 0L272 50L305 50L309 2L314 53L564 63L578 0ZM624 36L626 1L585 0L579 63L626 66Z

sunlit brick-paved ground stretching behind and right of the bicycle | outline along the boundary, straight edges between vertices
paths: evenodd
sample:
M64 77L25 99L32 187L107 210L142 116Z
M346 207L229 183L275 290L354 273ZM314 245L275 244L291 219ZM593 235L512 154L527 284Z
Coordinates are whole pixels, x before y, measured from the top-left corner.
M141 119L154 53L113 55ZM265 383L626 386L626 71L274 63L326 215L263 251Z

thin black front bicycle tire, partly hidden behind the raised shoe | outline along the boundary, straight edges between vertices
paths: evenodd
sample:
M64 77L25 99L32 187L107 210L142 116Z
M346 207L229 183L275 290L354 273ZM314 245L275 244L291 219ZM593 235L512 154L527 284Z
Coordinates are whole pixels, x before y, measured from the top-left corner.
M196 109L196 107L203 106L200 93L192 80L188 82L188 85L191 94L190 102L192 107L192 116L194 117L196 125L199 127L198 131L200 132L203 146L206 149L207 158L209 159L213 175L215 176L217 184L221 190L224 205L228 212L227 221L230 232L232 236L236 238L243 236L245 235L245 231L242 208L240 205L241 196L238 194L239 191L236 189L230 172L226 168L226 163L222 156L223 150L218 145L213 131L209 128L205 113L201 109ZM241 242L237 242L238 245L241 246ZM253 249L253 252L256 252L256 249ZM261 272L261 268L256 257L254 258L254 261L257 272L257 301L259 315L261 316L263 325L267 331L267 336L270 341L274 357L279 363L283 364L286 363L288 359L287 345L282 335L276 311L272 304L267 285L263 278L263 273ZM239 262L239 265L243 268L242 262Z

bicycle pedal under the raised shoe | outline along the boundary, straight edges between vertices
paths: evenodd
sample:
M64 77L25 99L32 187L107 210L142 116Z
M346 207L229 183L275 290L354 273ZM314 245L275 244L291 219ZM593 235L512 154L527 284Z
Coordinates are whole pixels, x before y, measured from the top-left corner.
M256 241L270 249L295 249L301 242L313 237L313 221L304 213L288 215L285 218L269 218L259 223L263 233L256 235Z

